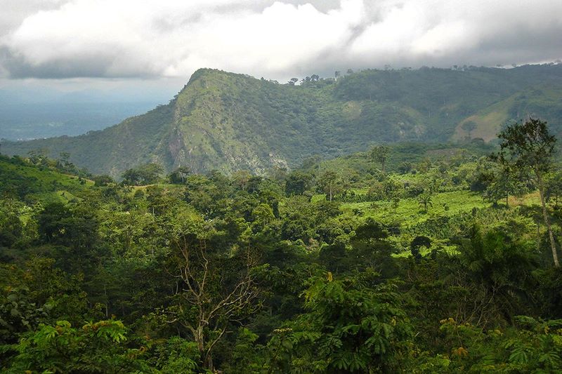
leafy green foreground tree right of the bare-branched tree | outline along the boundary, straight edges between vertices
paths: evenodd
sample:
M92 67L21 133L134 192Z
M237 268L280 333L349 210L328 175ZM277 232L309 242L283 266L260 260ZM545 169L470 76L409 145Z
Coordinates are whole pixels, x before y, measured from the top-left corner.
M274 330L270 373L398 373L412 326L393 283L373 286L368 269L335 279L314 276L303 292L305 313Z

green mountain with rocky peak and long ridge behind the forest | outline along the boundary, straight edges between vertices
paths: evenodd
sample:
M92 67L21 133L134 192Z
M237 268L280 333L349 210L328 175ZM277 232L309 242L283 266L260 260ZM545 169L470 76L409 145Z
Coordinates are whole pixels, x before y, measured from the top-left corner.
M370 69L299 85L200 69L169 104L146 114L77 137L4 142L1 151L68 152L78 166L113 176L148 162L166 171L263 173L376 142L492 140L503 123L529 114L559 134L561 95L562 65Z

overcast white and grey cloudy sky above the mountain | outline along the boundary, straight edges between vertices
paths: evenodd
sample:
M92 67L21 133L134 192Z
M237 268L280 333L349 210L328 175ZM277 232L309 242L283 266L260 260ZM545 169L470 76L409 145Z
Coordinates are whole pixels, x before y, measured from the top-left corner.
M0 84L172 87L562 58L562 0L0 0Z

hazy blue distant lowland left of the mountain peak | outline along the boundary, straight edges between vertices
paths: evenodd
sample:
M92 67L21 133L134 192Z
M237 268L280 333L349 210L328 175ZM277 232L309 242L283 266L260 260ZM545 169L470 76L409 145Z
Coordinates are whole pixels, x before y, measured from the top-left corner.
M180 84L104 79L26 79L0 86L0 139L80 135L166 104Z

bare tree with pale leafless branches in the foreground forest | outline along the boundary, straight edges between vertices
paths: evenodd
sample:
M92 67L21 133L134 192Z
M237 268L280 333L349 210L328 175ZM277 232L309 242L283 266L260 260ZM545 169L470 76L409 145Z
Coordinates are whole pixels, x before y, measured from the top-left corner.
M249 248L228 255L209 246L207 239L182 234L175 241L178 296L187 305L171 311L171 323L192 334L204 368L213 370L212 353L228 326L256 307L259 288L252 272L258 261Z

